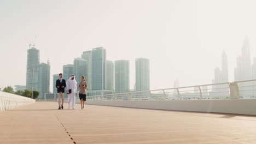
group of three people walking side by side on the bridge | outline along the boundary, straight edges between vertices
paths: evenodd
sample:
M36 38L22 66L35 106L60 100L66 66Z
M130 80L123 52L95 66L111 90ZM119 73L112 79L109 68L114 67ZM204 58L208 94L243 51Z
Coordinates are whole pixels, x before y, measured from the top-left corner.
M68 94L68 109L75 107L75 96L77 95L77 81L75 80L75 75L71 75L67 82L62 79L62 74L59 74L59 79L56 80L56 88L58 93L58 102L59 102L59 110L64 109L64 95L65 88L67 87ZM79 83L79 99L81 103L81 109L84 109L84 103L86 101L86 89L88 85L85 82L85 77L81 77L81 82Z

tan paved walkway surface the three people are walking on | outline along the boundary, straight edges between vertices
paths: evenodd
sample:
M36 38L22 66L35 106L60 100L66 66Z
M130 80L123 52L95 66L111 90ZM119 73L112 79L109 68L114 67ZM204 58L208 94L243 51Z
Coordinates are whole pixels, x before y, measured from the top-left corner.
M79 107L79 105L77 105ZM256 143L256 117L37 102L0 112L0 143Z

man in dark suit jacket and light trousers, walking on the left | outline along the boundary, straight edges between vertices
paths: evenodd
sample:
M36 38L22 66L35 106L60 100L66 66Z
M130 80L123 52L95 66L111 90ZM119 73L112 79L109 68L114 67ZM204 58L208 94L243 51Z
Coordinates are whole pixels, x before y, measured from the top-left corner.
M60 77L60 79L57 79L57 81L56 81L56 88L57 88L57 93L58 93L59 110L60 110L60 109L63 109L66 81L64 79L62 79L61 73L59 74L59 77ZM61 103L61 101L62 101L62 103Z

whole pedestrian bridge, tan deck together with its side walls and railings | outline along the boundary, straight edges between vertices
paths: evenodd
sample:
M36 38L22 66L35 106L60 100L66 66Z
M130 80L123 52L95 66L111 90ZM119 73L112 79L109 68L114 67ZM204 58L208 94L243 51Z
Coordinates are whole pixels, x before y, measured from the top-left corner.
M255 81L90 96L84 110L0 92L0 143L256 143Z

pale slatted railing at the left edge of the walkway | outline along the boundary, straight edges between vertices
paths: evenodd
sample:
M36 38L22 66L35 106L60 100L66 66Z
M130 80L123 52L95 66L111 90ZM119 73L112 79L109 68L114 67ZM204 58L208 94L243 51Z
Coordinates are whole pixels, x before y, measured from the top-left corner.
M0 91L0 111L14 109L20 105L32 104L34 102L35 100L31 98Z

